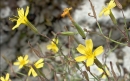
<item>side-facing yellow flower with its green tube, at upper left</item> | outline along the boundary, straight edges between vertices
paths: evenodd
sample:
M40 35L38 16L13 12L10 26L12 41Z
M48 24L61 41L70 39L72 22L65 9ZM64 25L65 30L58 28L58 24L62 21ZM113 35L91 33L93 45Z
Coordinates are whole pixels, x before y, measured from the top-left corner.
M27 6L26 12L24 12L23 8L18 8L17 11L18 16L14 16L15 18L9 18L9 20L11 20L12 22L17 21L17 24L12 28L12 30L18 28L20 24L25 24L28 27L30 27L33 31L38 32L37 29L27 19L27 15L29 13L29 7Z

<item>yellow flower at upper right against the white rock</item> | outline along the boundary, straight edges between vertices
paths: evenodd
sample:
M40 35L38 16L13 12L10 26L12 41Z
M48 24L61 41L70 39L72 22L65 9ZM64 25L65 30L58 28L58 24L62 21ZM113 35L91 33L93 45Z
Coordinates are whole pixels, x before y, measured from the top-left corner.
M106 7L102 9L102 11L99 13L99 17L101 17L104 13L105 16L110 14L110 10L116 6L114 0L111 0Z

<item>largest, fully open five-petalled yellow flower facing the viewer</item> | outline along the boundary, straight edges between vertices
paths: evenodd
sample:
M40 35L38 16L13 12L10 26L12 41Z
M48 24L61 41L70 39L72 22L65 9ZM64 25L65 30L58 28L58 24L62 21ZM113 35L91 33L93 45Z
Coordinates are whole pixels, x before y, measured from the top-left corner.
M83 54L75 58L77 62L87 60L86 65L91 66L94 63L95 56L100 55L103 52L103 47L99 46L93 52L93 42L91 39L85 41L86 47L82 44L79 44L77 50L79 53Z

